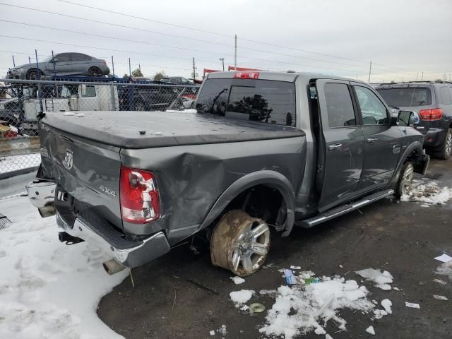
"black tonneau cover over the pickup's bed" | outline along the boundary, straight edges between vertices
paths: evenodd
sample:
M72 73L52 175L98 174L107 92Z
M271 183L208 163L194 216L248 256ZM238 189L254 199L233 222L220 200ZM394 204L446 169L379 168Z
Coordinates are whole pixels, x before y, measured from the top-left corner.
M290 126L195 112L77 113L84 116L47 112L42 122L54 129L119 148L157 148L304 136L303 131Z

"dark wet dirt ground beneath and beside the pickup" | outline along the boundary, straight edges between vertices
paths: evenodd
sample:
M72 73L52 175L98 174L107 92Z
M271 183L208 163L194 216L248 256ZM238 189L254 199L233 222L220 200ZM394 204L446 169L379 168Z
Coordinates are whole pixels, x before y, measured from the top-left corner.
M452 160L432 161L427 177L440 186L452 186ZM102 321L127 339L132 338L264 338L258 328L266 311L244 314L234 307L229 293L234 290L275 289L283 285L279 268L302 266L316 275L341 275L357 280L354 272L364 268L388 270L393 287L383 291L365 283L369 299L391 299L393 314L371 321L369 315L340 311L347 331L338 332L332 321L326 331L334 338L452 338L452 281L434 272L434 260L445 251L452 255L452 203L422 208L417 203L396 203L383 199L311 230L295 229L290 237L272 239L262 269L234 285L227 270L213 267L207 246L198 241L200 254L188 245L179 246L162 258L133 269L131 280L106 295L98 314ZM340 268L340 265L342 268ZM432 280L448 281L440 285ZM434 299L444 295L448 301ZM254 298L270 309L274 300ZM420 304L420 309L405 307ZM227 334L210 336L209 331L226 326ZM365 332L374 326L376 335ZM311 332L299 338L324 338Z

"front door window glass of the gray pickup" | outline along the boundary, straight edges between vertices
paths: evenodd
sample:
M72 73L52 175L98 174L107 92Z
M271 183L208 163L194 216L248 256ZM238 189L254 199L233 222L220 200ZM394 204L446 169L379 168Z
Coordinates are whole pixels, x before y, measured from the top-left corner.
M353 86L358 97L359 108L364 125L386 125L389 124L388 112L383 102L369 88Z

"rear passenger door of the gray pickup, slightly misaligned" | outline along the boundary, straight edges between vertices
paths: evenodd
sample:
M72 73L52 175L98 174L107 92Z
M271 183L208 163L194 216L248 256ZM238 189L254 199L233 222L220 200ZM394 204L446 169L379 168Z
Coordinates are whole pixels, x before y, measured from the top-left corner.
M323 131L319 210L351 198L364 163L364 136L348 81L316 81ZM319 170L319 168L318 168Z

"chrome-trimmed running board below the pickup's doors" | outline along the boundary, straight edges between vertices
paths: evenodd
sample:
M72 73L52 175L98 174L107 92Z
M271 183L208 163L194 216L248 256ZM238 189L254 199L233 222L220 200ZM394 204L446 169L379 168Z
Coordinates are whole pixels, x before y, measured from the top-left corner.
M380 200L386 196L391 196L394 194L393 189L386 189L385 191L379 191L370 196L366 196L359 201L355 201L355 203L347 203L342 206L335 207L331 210L326 210L325 212L316 215L315 217L303 220L299 225L304 228L313 227L321 224L322 222L326 222L333 218L338 217L339 215L343 215L345 213L349 213L352 210L357 210L362 206L366 206L369 203L373 203L374 201Z

